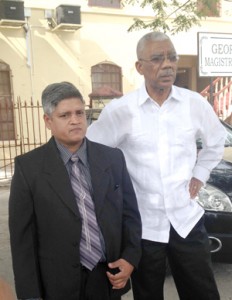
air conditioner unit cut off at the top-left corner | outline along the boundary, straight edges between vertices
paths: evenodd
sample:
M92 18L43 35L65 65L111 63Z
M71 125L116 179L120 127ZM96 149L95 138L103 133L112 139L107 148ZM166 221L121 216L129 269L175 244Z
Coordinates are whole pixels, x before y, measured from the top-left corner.
M0 25L22 26L25 24L24 2L1 0L0 1Z

